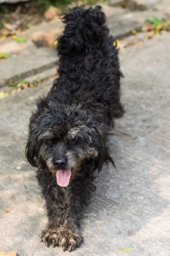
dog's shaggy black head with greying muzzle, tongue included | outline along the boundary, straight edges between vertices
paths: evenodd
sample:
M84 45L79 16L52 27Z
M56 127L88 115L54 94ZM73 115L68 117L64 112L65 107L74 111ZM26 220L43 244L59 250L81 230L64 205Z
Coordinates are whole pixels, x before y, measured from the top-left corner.
M101 170L112 161L103 125L81 106L39 100L31 117L26 156L32 166L44 166L57 176L59 186L81 172Z

